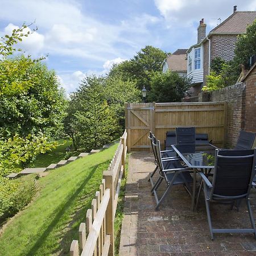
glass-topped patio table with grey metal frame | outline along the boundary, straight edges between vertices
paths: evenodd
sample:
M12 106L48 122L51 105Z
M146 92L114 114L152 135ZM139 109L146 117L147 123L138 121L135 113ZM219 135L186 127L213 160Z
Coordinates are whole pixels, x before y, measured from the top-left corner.
M195 208L196 197L196 172L197 170L206 172L214 168L214 155L217 147L212 144L179 144L172 145L177 155L184 163L193 169L193 189L191 209Z

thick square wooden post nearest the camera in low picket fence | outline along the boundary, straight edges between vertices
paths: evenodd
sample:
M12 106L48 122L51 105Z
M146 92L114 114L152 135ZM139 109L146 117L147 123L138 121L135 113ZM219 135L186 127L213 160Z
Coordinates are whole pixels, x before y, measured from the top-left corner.
M114 256L114 179L113 172L104 171L106 188L110 190L110 198L106 209L106 234L110 235L109 256Z

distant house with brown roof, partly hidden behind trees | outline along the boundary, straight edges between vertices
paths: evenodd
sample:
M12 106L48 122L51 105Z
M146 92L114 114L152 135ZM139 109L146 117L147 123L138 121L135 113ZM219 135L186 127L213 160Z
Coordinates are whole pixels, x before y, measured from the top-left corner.
M163 73L176 71L180 76L187 76L187 50L177 49L163 61Z

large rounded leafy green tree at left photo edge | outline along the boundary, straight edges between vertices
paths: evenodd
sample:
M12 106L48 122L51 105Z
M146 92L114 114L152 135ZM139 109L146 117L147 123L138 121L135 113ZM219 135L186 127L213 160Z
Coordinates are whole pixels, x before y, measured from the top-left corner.
M65 98L54 71L24 56L0 62L0 136L59 133Z

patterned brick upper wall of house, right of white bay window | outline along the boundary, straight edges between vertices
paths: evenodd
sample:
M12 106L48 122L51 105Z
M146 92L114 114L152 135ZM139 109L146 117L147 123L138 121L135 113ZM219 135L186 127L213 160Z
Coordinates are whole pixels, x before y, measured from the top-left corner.
M228 61L233 60L237 35L212 35L210 37L210 59L222 57Z

